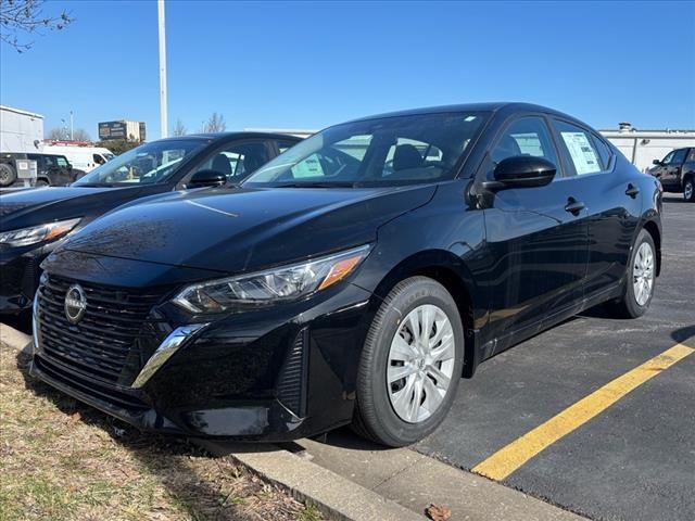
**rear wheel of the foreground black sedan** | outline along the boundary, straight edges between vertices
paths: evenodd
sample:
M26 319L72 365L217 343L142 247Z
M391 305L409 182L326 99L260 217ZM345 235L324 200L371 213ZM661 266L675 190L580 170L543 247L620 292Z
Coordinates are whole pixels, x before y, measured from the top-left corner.
M647 250L650 252L652 260L649 264L650 268L648 270L650 274L648 276L650 278L650 283L648 284L648 294L646 294L645 297L645 294L641 293L636 288L637 282L635 281L635 270L639 269L640 266L644 269L644 263L646 262L644 260L645 252ZM635 264L640 266L635 266ZM616 318L637 318L644 315L649 308L656 283L656 247L654 245L654 240L647 230L640 230L634 247L632 249L632 253L630 254L630 263L626 270L627 277L622 296L610 303L608 305L608 309L611 316ZM645 280L643 277L641 279Z

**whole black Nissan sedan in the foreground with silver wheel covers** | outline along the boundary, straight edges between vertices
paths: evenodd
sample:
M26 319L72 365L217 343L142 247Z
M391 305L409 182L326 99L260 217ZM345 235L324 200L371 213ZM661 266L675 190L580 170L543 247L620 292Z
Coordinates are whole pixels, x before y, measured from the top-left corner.
M338 125L238 189L113 212L43 263L31 373L142 429L430 433L459 377L599 303L637 317L661 191L528 104Z

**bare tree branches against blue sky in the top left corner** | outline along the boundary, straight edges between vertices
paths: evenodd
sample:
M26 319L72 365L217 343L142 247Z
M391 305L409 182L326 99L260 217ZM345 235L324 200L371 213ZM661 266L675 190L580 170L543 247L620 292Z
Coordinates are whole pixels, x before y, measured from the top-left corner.
M0 40L17 52L28 51L33 41L20 35L42 35L45 30L64 29L73 18L65 11L58 16L43 14L45 0L0 0Z

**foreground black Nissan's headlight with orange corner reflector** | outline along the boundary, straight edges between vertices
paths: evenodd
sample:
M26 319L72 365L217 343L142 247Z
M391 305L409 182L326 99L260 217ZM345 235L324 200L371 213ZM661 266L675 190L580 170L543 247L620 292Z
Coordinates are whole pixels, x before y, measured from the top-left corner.
M174 303L195 314L242 310L294 301L348 277L367 256L365 245L267 271L189 285Z

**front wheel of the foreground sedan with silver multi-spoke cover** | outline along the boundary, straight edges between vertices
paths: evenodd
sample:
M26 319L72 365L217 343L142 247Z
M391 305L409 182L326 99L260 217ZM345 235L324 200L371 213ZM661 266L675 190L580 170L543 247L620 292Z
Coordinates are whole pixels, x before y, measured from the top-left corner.
M419 333L417 345L431 345L421 348L412 330L427 320L433 326L427 340ZM407 355L402 356L404 352ZM452 406L463 363L464 327L452 295L427 277L403 280L383 301L367 333L357 370L353 429L391 447L427 436ZM409 374L395 380L402 371Z

